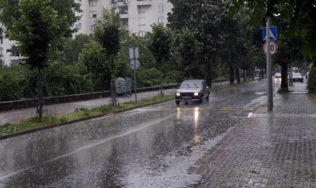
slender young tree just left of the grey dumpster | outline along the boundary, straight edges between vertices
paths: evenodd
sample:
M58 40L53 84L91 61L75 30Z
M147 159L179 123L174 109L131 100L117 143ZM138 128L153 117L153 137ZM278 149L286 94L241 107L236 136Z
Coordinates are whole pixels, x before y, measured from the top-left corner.
M111 73L111 91L114 90L113 80L117 71L117 64L114 62L114 58L117 57L119 52L119 38L120 32L124 31L119 20L119 13L115 13L114 7L103 8L100 18L95 20L96 29L94 31L97 41L101 44L103 53L109 58L109 70ZM103 62L99 62L103 63ZM114 92L114 91L113 91ZM112 104L114 104L115 95L112 94Z

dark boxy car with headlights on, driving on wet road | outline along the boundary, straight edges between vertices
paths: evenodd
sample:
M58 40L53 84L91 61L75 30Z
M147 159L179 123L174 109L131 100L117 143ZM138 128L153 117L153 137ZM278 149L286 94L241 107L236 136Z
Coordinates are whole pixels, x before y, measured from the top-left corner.
M186 80L176 91L175 98L177 105L181 101L199 101L203 103L204 98L207 101L210 99L209 87L205 80Z

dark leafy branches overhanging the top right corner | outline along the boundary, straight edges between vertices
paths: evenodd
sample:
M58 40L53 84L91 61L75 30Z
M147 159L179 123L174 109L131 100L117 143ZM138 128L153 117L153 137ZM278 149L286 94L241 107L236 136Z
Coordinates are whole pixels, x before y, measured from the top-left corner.
M304 43L300 52L312 59L316 56L316 8L315 0L233 0L228 10L230 15L236 13L241 7L251 10L251 22L261 22L265 17L282 17L289 24L285 39L300 36Z

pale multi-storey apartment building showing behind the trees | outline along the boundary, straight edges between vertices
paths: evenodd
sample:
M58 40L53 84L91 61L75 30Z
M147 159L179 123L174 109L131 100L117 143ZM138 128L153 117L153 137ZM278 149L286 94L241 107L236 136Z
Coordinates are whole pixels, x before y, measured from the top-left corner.
M153 23L167 23L167 14L171 12L172 4L168 0L75 0L81 3L81 19L74 24L78 32L90 34L95 29L95 19L99 18L102 8L114 7L120 13L120 20L128 27L129 32L144 36L151 31ZM14 52L6 52L14 41L1 39L0 47L4 64L17 63L21 57L16 57Z

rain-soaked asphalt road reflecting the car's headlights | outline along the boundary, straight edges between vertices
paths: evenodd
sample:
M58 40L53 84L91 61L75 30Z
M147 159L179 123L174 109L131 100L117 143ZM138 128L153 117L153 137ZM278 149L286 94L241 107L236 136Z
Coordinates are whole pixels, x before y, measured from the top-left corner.
M190 167L266 102L265 91L259 81L213 90L202 105L171 101L1 140L0 187L190 186L200 180Z

